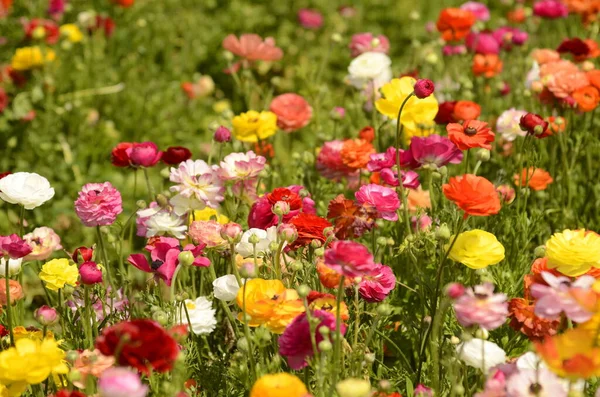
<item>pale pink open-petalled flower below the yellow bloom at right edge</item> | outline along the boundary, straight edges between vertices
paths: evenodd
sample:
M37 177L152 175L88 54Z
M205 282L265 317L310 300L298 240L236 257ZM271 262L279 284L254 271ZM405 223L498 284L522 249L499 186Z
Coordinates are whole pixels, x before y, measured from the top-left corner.
M548 285L535 283L531 286L531 296L537 299L537 316L554 320L565 313L575 323L584 323L592 317L593 313L578 303L573 292L589 290L596 281L594 277L584 275L571 282L568 277L542 272L542 278Z

